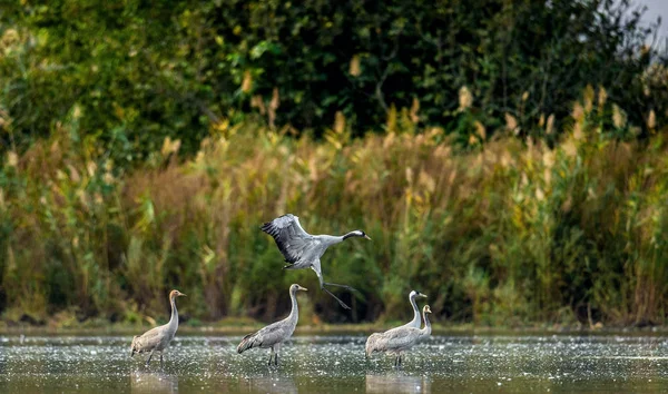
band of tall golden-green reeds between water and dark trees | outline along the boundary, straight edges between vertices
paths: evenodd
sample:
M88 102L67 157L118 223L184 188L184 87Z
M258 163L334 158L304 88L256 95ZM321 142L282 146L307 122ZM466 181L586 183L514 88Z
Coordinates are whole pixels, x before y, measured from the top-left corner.
M666 130L610 139L598 97L553 149L503 137L454 154L439 128L351 140L343 120L325 142L246 126L185 162L166 140L122 177L72 138L75 119L0 174L4 317L137 321L164 315L176 287L190 318L269 319L298 282L313 289L305 311L328 322L405 318L420 288L441 321L664 323ZM372 236L323 258L326 278L361 290L341 294L352 313L311 270L281 269L258 226L287 211L316 234Z

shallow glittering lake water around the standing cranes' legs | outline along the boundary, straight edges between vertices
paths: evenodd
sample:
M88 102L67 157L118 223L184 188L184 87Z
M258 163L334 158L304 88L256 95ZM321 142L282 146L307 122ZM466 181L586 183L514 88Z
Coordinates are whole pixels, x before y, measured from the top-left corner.
M130 358L130 336L0 336L0 392L668 392L666 336L432 336L400 370L365 361L362 335L295 336L277 367L240 338L177 334L160 368Z

